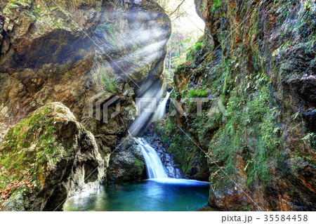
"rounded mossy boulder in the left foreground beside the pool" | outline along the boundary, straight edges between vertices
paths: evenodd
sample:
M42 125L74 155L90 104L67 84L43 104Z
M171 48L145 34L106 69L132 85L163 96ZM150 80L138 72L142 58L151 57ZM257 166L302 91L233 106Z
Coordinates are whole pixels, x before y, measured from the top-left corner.
M67 197L104 176L94 136L61 103L40 107L11 128L0 152L3 210L60 211Z

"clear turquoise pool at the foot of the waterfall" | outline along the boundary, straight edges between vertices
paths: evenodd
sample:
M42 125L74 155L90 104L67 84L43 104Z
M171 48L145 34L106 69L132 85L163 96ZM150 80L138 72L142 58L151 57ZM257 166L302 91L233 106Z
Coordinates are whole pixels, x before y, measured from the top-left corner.
M183 180L143 180L113 184L67 200L65 211L197 211L206 206L209 183Z

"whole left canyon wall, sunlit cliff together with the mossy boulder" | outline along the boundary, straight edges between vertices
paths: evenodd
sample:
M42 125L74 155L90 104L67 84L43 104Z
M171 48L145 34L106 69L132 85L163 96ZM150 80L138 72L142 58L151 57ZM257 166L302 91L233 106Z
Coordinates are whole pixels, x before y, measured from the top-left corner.
M53 198L72 195L81 180L102 183L106 179L110 154L136 118L135 93L148 77L163 82L170 34L171 22L156 1L1 1L0 192L2 202L7 202L4 210L52 210L64 202ZM49 122L28 121L35 110L51 108L54 102L71 112L48 112L41 119ZM103 113L104 105L107 113ZM111 119L117 110L119 114ZM51 123L54 119L57 123ZM78 133L63 138L70 131ZM67 153L52 164L41 136L60 153ZM83 150L81 142L86 143ZM16 163L9 161L11 153L20 158ZM86 176L93 169L88 167L103 171L90 180ZM44 176L37 175L43 169ZM27 175L17 179L19 173ZM61 180L58 186L48 181L51 176L55 176L52 181ZM21 184L12 187L12 183ZM20 192L16 187L27 190L18 199L13 198L14 192Z

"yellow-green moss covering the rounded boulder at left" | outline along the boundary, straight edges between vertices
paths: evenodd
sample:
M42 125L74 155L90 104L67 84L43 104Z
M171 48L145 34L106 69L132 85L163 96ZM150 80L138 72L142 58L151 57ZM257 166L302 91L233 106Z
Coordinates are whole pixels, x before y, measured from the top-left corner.
M29 114L11 128L0 145L0 188L8 180L18 180L25 171L35 180L48 159L54 162L60 154L56 125L60 122L67 124L68 121L50 105Z

